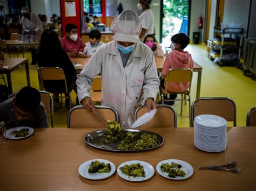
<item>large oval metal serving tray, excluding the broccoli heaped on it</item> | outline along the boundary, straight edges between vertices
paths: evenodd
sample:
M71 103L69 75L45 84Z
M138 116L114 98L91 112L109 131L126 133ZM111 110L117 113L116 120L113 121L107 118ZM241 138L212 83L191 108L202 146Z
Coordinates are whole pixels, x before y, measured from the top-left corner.
M151 135L156 135L158 138L158 145L154 146L152 148L147 148L144 150L131 150L131 151L125 151L125 150L118 150L117 145L120 143L120 141L116 143L110 143L110 144L105 144L104 143L104 132L105 130L97 130L97 131L92 131L90 133L87 133L87 135L84 137L84 142L92 147L99 148L101 150L106 150L106 151L116 151L116 152L138 152L138 151L147 151L147 150L152 150L153 148L157 148L160 145L164 143L164 138L157 133L151 132L151 131L145 131L145 130L138 130L138 129L126 129L125 131L129 132L142 132L142 133L147 133Z

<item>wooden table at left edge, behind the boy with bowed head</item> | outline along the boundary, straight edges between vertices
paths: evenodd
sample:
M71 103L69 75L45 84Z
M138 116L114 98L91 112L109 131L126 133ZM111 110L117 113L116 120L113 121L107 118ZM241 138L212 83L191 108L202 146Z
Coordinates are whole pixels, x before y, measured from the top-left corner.
M21 67L24 64L26 68L26 82L28 83L28 86L30 86L28 58L5 58L2 61L2 63L3 63L3 66L9 66L8 69L0 69L0 74L6 74L9 94L13 93L12 82L11 82L11 72L13 72L14 70Z

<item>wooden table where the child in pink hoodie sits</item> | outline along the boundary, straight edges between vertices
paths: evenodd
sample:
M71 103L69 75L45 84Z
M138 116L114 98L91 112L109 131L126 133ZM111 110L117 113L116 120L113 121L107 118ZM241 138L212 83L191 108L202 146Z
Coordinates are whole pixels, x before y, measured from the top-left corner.
M164 60L165 57L157 57L155 56L154 59L156 60L156 65L157 65L157 70L158 72L161 72L164 66ZM198 72L198 77L197 77L197 94L196 98L200 97L200 89L201 89L201 77L202 77L202 67L195 61L194 62L194 68L193 72Z

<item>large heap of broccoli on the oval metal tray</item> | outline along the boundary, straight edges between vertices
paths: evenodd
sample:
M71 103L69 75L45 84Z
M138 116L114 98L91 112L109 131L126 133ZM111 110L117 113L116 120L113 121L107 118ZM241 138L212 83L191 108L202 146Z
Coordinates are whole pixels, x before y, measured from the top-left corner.
M124 131L119 123L110 120L107 121L107 129L104 136L104 142L107 144L121 140L117 146L118 150L144 150L158 145L156 135Z

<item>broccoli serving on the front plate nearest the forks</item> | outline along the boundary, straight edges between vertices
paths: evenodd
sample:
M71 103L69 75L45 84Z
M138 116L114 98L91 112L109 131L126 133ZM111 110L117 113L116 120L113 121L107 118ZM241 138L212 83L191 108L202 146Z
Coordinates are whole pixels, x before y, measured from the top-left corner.
M184 177L186 175L186 173L180 168L181 165L175 162L172 162L172 164L161 164L161 171L168 173L168 176L171 178L177 178L177 176Z

